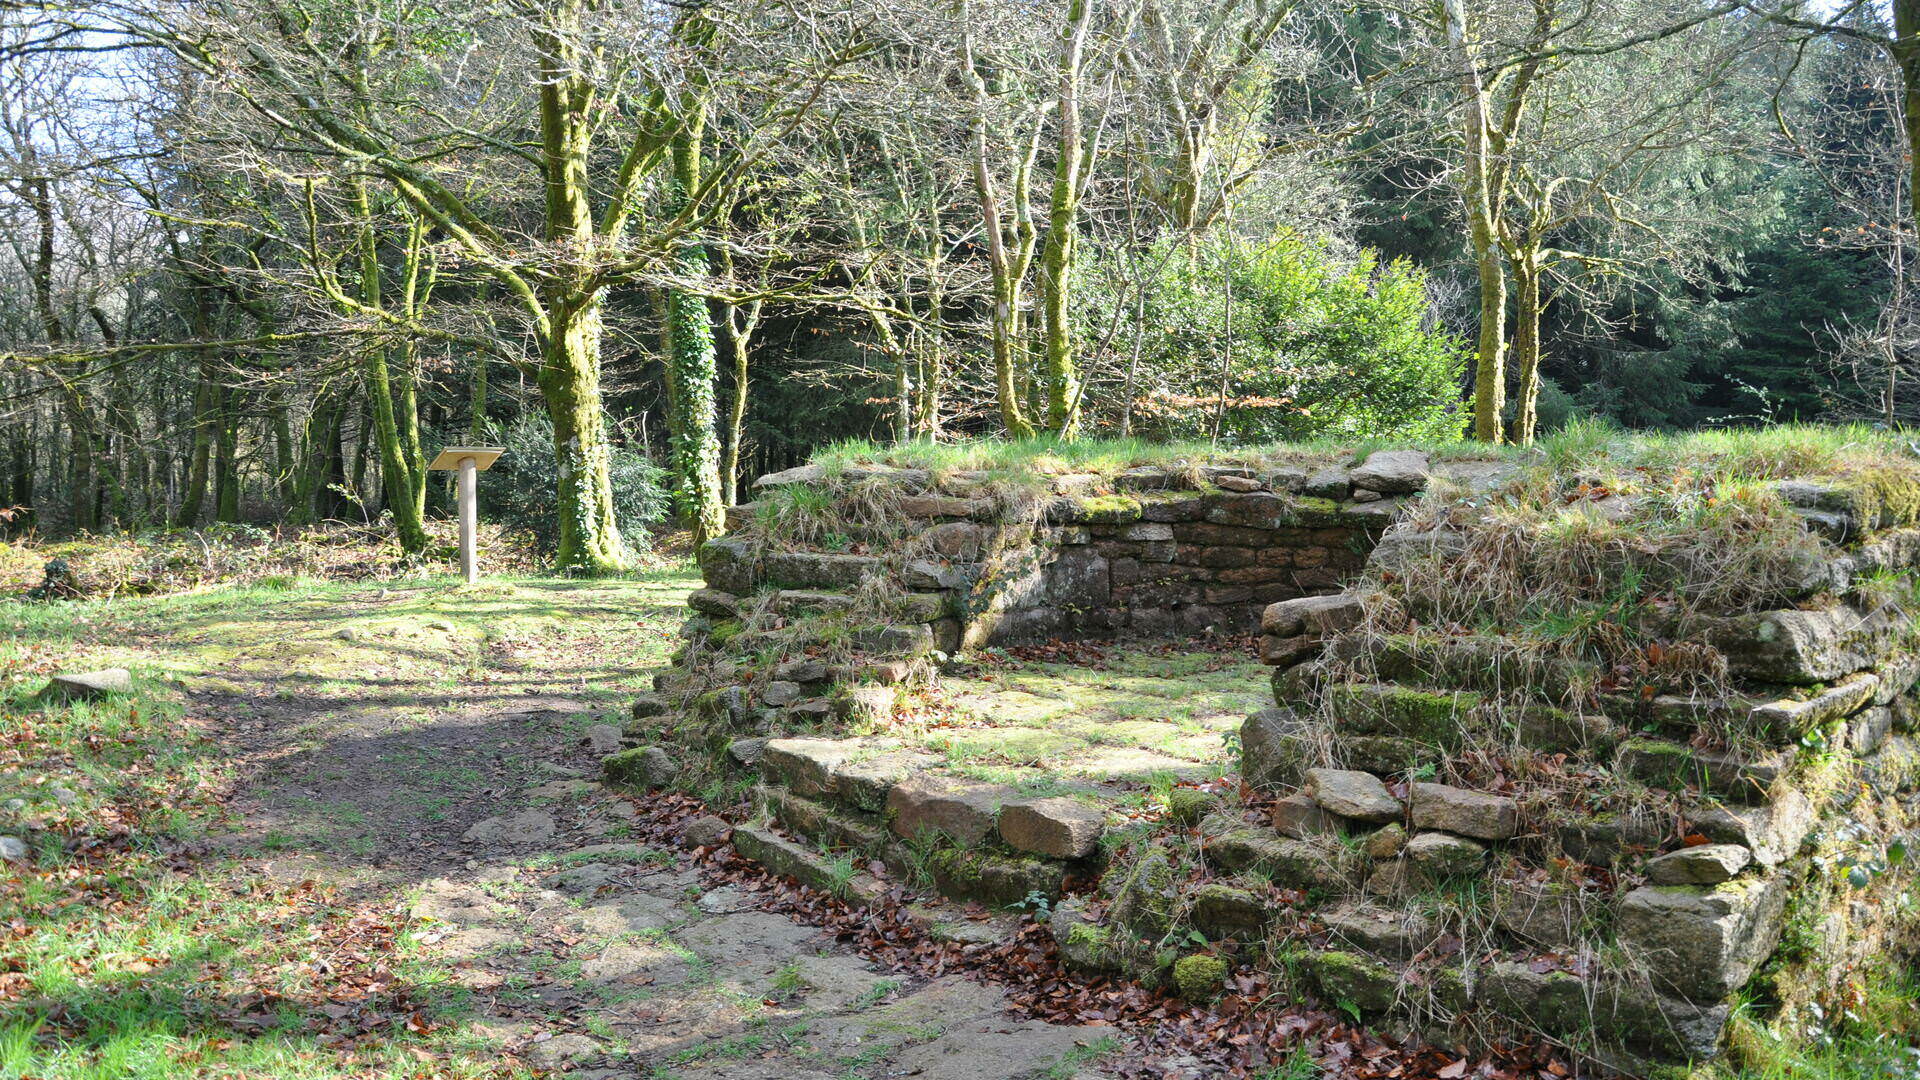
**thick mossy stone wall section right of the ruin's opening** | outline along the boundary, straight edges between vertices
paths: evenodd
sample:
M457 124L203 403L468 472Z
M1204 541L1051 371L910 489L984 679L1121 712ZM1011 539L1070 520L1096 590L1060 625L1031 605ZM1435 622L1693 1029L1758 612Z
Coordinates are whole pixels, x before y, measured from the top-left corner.
M1323 890L1309 982L1651 1074L1713 1057L1741 994L1791 1017L1910 955L1920 532L1834 486L1780 494L1824 538L1780 605L1686 626L1684 598L1649 605L1620 619L1647 642L1630 667L1423 625L1402 582L1498 557L1471 515L1404 523L1350 592L1263 613L1277 707L1242 771L1281 798L1202 830L1210 857Z

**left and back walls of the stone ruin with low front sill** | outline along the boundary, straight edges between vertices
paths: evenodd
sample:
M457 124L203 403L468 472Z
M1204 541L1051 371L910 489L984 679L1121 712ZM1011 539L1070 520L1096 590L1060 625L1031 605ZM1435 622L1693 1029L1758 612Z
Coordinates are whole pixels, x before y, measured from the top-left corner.
M1356 469L762 477L730 511L733 532L699 552L707 588L689 600L687 644L634 707L643 746L609 769L643 786L747 776L791 836L956 897L1058 897L1069 876L1102 871L1098 811L939 776L927 753L847 732L979 648L1254 632L1265 605L1352 577L1417 482L1392 454ZM931 861L914 849L935 840ZM778 832L747 828L737 844L808 872Z

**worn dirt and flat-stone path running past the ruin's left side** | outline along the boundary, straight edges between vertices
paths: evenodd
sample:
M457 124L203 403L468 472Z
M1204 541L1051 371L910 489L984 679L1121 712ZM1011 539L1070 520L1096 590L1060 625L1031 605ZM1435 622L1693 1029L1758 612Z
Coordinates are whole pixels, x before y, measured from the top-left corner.
M1018 1020L964 976L893 976L634 838L634 801L595 765L664 644L618 628L659 634L676 588L645 596L645 615L605 590L545 590L545 632L522 625L524 598L413 600L290 605L230 650L228 630L156 625L152 646L213 634L190 686L242 769L221 846L276 884L403 913L426 978L451 990L422 1026L595 1078L1098 1074L1098 1028Z

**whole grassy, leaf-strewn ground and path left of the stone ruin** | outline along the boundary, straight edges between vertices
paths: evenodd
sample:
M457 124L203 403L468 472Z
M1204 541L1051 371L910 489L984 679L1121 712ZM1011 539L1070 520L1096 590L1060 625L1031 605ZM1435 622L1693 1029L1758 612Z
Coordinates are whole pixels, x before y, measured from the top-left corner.
M693 580L0 605L0 1076L1092 1076L1110 1030L899 976L601 788ZM136 692L46 707L46 676Z

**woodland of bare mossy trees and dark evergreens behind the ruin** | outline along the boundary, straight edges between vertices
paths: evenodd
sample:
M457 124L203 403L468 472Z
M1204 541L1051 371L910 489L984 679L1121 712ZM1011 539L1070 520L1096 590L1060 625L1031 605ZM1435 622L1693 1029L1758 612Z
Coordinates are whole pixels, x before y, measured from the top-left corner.
M1901 0L0 0L15 534L849 440L1914 421ZM1916 98L1920 102L1920 98Z

